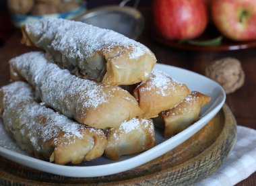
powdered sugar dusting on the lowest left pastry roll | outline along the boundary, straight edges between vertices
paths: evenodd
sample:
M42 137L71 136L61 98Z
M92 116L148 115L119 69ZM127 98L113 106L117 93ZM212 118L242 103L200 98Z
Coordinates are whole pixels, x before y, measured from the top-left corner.
M29 140L38 152L44 150L44 143L49 140L53 140L54 144L59 142L60 132L63 132L63 137L68 139L63 145L74 143L76 138L84 138L88 132L104 136L102 130L77 124L64 115L34 102L32 89L24 82L11 83L2 87L2 90L5 94L3 97L5 126L14 132L20 130L22 139L28 138L26 140ZM26 146L23 148L26 149Z

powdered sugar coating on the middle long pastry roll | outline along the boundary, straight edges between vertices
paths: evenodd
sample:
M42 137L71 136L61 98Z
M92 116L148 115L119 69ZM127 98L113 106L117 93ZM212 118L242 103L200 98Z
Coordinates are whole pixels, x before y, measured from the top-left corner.
M117 91L125 92L124 99L132 98L117 86L102 85L71 75L69 71L47 62L42 52L23 54L13 58L10 63L36 88L37 97L68 117L72 117L77 109L81 115L86 115L88 109L106 103Z

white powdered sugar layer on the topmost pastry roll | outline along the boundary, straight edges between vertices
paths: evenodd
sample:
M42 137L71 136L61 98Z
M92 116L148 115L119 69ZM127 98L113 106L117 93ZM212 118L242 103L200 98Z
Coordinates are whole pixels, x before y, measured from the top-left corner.
M67 58L79 58L80 61L90 58L96 51L109 52L116 46L131 49L130 58L138 58L143 54L152 55L143 44L117 32L77 21L44 18L36 23L26 24L26 32L34 35L32 40L34 39L36 46L43 46L44 50L51 48L65 54ZM48 42L45 44L45 41Z

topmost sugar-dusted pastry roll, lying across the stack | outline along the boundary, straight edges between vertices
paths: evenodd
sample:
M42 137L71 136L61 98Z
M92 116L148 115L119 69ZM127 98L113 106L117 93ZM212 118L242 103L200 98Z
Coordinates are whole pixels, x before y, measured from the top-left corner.
M84 79L131 85L148 79L156 57L143 44L112 30L67 19L44 18L22 28L22 44Z

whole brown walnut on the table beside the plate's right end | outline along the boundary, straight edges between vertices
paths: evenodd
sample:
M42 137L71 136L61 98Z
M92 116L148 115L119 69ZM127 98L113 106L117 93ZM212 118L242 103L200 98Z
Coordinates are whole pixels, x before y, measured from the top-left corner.
M222 85L226 93L233 93L245 83L245 73L236 58L222 58L205 68L205 75Z

